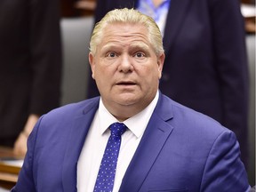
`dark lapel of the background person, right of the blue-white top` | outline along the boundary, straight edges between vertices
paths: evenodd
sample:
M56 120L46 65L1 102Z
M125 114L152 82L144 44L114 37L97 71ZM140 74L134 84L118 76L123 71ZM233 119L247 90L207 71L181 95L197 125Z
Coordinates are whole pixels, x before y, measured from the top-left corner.
M188 4L191 2L192 0L171 0L171 7L164 28L165 54L170 51L175 36L178 35L183 20L185 19L186 12L188 12Z

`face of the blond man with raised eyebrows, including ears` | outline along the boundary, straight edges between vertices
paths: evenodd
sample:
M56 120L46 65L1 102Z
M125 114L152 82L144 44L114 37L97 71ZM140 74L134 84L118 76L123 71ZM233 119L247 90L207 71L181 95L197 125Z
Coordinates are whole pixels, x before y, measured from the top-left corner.
M156 95L164 53L156 57L147 28L139 24L111 24L103 34L96 54L89 55L92 77L106 108L132 108L136 114Z

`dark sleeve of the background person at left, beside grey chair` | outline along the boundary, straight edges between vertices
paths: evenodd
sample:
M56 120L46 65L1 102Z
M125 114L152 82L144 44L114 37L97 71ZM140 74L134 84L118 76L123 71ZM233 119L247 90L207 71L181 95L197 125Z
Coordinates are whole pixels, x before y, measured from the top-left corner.
M30 63L33 71L30 114L42 115L60 105L59 5L58 0L30 1Z

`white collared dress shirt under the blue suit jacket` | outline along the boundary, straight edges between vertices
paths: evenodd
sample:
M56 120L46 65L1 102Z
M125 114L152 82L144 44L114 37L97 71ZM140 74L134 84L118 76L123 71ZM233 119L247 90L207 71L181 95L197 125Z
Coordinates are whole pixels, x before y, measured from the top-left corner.
M155 99L152 100L147 108L123 122L128 129L122 135L113 192L117 192L121 186L124 173L156 108L158 97L159 93L157 92ZM100 99L99 109L94 116L77 164L78 192L93 191L100 169L101 158L110 135L108 127L115 122L118 122L118 120L108 112L108 109L105 108Z

